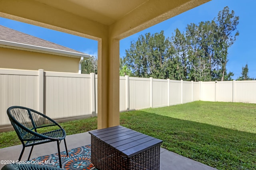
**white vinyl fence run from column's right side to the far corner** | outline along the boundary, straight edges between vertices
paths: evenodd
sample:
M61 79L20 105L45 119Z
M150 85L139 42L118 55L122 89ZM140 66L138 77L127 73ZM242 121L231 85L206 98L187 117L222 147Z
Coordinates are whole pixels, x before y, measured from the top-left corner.
M200 82L120 77L120 111L164 107L200 100ZM193 91L198 92L194 94Z

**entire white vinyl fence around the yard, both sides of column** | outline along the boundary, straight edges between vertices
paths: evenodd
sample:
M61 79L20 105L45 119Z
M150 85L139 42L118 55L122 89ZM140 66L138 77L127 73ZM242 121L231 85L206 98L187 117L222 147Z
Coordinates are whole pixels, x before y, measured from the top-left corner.
M10 127L6 110L25 106L53 119L97 114L97 75L0 69L0 131ZM120 111L164 107L196 100L256 103L256 80L193 82L120 77Z

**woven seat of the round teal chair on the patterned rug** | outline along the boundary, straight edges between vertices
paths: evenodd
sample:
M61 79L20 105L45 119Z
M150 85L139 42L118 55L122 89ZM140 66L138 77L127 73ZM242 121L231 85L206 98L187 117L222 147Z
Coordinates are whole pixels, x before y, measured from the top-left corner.
M41 135L45 135L47 137L55 138L56 140L62 140L62 139L65 138L64 129L58 129L58 130L49 131L49 132L46 132L46 133L41 133ZM35 139L35 140L33 140L33 139ZM38 140L38 139L40 139L40 138L34 136L34 138L30 139L32 141L27 141L25 143L25 146L29 147L29 146L32 146L32 145L38 145L38 144L42 144L42 143L52 142L51 139L42 139L42 140Z

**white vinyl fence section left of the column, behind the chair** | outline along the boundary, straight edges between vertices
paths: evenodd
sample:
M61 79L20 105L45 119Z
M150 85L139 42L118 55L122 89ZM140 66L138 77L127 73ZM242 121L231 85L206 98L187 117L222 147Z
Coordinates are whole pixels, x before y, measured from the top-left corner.
M6 110L25 106L53 119L92 117L97 112L97 75L0 69L0 130Z

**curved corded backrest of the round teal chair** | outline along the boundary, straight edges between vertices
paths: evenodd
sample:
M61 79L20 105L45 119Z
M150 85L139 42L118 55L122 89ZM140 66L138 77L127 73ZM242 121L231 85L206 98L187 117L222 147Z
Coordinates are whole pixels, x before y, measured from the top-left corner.
M21 141L31 139L30 131L36 132L36 128L57 124L46 115L22 106L9 107L7 115Z

